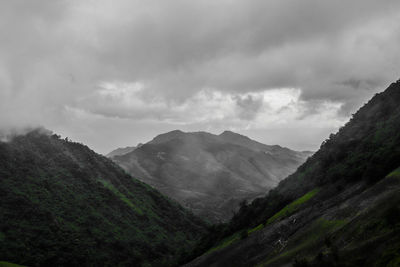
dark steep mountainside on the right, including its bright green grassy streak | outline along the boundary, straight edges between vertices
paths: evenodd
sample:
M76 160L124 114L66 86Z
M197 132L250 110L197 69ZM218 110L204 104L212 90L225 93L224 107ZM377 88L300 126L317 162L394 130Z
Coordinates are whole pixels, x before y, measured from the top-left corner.
M399 103L397 81L185 266L399 266Z

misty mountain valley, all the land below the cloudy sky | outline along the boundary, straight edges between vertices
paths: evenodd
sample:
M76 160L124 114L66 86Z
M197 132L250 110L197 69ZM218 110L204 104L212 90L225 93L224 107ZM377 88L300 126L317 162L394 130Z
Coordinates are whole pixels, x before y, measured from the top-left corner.
M45 128L0 142L0 266L398 266L400 82L320 149L225 131L107 157Z

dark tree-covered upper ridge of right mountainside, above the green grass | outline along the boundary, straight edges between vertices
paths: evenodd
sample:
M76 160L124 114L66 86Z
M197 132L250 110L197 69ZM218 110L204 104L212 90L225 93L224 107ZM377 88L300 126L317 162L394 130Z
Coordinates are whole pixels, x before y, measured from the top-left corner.
M325 198L349 184L369 185L385 177L400 163L400 81L375 95L338 133L265 198L243 206L230 228L264 222L282 207L316 187Z

